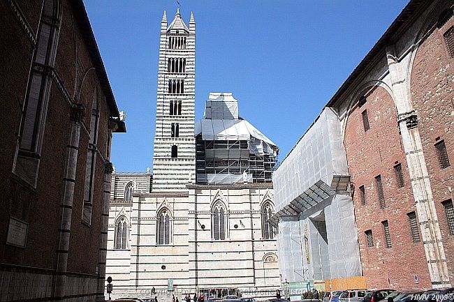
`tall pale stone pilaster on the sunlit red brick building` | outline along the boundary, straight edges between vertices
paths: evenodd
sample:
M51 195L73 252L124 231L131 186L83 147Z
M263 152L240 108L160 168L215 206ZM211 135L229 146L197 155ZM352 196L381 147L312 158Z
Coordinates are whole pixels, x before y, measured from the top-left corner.
M397 108L397 123L402 135L402 146L409 167L411 189L416 203L416 215L423 238L425 257L430 273L432 287L451 286L444 245L435 209L430 176L427 172L423 144L418 130L418 116L410 102L409 80L407 79L408 60L397 58L393 45L386 48L391 86Z

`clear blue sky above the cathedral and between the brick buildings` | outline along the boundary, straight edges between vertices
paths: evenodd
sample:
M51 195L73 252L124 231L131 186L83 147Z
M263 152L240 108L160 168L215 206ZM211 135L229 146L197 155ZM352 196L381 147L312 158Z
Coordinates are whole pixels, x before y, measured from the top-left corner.
M210 91L233 92L240 116L274 141L282 160L408 0L179 0L196 19L196 119ZM86 0L127 133L117 171L152 167L163 10L175 0Z

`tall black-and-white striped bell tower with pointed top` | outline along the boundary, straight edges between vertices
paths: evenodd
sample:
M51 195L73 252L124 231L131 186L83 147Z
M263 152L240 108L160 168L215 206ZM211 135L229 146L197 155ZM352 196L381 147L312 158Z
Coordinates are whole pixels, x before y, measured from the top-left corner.
M156 133L153 153L154 192L186 190L195 179L194 139L196 22L186 27L180 9L168 25L161 21Z

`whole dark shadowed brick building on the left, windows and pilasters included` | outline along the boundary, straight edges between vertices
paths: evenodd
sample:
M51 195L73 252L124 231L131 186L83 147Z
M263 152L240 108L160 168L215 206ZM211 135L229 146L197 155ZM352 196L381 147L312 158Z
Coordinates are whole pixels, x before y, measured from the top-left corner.
M1 1L0 301L103 301L112 133L81 0Z

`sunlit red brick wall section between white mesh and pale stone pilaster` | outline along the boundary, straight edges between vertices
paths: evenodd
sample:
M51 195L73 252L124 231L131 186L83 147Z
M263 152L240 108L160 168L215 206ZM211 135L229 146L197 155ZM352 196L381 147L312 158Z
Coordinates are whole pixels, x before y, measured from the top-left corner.
M369 130L363 126L367 110ZM353 106L346 122L344 144L355 204L360 255L368 288L430 288L423 243L413 243L407 213L416 211L405 154L402 149L397 112L388 91L376 87L361 107ZM398 188L394 166L401 163L404 187ZM375 177L381 175L386 206L380 208ZM366 204L360 198L365 187ZM391 248L386 247L382 221L388 220ZM374 246L368 247L365 231L372 229ZM420 282L414 284L413 275Z

